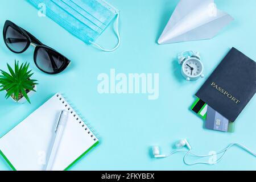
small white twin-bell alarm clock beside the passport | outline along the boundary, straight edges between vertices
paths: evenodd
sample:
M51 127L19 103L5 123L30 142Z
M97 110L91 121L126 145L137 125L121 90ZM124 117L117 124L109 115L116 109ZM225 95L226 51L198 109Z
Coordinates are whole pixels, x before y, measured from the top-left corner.
M178 59L181 65L181 74L187 81L204 77L204 65L200 60L199 52L184 51L180 53Z

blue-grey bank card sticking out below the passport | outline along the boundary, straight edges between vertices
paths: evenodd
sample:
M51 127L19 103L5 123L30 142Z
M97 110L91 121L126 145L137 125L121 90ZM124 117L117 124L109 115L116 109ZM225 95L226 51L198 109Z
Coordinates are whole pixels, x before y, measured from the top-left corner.
M216 110L212 109L212 107L208 106L205 127L209 130L227 132L229 127L229 120L218 113Z

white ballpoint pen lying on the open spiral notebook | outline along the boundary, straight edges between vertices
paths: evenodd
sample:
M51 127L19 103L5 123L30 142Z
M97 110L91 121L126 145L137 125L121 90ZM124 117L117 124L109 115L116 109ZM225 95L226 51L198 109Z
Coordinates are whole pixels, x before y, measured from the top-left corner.
M63 135L63 131L65 129L66 122L68 120L68 111L66 110L61 110L59 120L57 122L56 128L55 128L55 133L54 133L54 142L52 145L52 148L50 149L50 155L49 155L49 160L47 163L46 171L51 171L52 166L54 164L55 156L57 154L59 144Z

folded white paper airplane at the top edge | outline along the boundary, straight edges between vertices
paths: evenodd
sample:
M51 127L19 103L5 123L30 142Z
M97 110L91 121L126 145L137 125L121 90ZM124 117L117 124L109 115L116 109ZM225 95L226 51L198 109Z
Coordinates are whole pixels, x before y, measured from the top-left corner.
M211 39L232 20L214 0L180 0L158 44Z

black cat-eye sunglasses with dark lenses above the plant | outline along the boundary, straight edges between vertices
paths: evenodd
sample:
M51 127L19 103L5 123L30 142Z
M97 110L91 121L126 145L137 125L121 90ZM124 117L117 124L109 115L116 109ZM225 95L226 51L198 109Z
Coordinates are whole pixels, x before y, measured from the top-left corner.
M51 47L36 39L30 32L6 20L3 27L3 39L10 51L23 53L29 46L35 47L34 61L36 67L48 74L57 74L64 71L71 61Z

